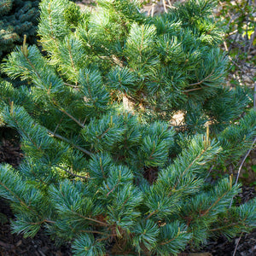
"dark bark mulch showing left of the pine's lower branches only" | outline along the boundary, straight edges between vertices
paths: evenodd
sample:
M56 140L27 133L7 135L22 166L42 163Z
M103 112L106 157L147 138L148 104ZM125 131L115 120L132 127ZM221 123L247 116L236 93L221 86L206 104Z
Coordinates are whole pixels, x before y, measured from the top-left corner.
M0 163L16 167L23 154L20 150L18 134L7 127L0 127ZM3 213L3 214L1 214ZM6 222L1 224L1 220ZM15 218L7 201L0 199L0 255L1 256L70 256L70 244L55 246L44 230L33 238L12 234L9 220Z

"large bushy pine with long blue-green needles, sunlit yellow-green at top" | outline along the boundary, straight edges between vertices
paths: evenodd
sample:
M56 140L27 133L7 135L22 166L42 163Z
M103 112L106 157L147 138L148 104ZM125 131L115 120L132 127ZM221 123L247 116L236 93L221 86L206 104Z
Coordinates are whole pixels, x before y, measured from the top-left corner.
M152 18L126 0L84 12L42 1L44 55L24 42L2 66L30 84L0 90L0 117L25 154L17 170L0 166L15 232L44 228L74 255L177 255L255 227L255 201L230 206L240 185L209 175L256 134L250 92L224 88L213 4ZM183 125L172 127L177 110Z

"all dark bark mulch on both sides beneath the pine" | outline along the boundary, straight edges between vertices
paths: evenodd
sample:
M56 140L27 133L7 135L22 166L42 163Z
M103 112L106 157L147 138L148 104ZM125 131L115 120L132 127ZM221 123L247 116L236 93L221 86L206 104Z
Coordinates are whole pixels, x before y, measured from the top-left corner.
M9 136L11 134L11 136ZM0 163L8 162L12 166L18 166L22 153L20 144L15 131L0 128ZM244 203L256 196L255 189L243 186L242 193L238 195L240 203ZM4 215L1 215L3 213ZM55 242L44 233L44 230L38 232L33 238L24 238L21 235L12 234L9 220L14 218L13 213L6 201L0 199L0 220L1 216L6 216L6 222L0 222L0 256L70 256L72 255L70 243L62 246L56 246ZM237 245L237 248L236 248ZM209 241L206 247L201 249L201 254L190 249L188 253L181 255L212 255L212 256L233 256L236 249L236 256L256 255L256 230L251 234L244 234L228 241L224 237L217 241ZM190 254L192 253L192 254ZM195 253L195 254L194 254Z

